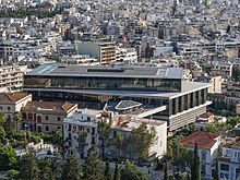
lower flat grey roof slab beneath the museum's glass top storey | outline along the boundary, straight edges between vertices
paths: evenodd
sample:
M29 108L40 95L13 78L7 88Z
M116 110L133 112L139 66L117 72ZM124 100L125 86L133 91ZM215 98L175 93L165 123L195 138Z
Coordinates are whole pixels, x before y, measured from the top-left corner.
M107 89L73 89L73 88L24 88L25 91L43 91L43 92L61 92L61 93L83 93L97 95L116 95L131 97L148 97L148 98L176 98L203 88L212 86L209 83L187 82L182 81L181 92L137 92L137 91L107 91Z

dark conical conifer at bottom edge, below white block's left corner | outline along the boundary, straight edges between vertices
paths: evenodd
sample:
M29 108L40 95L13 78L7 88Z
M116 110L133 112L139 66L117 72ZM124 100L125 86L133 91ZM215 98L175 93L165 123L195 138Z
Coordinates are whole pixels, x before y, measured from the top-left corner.
M67 161L63 166L61 180L81 180L80 163L73 155L68 155Z

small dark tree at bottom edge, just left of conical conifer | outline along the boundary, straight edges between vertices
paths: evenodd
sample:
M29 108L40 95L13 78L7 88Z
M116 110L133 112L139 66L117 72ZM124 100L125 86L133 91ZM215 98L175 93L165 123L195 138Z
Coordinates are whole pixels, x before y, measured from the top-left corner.
M39 179L40 180L55 180L55 173L51 168L51 161L50 159L40 159L38 160L38 167L40 169L39 171Z

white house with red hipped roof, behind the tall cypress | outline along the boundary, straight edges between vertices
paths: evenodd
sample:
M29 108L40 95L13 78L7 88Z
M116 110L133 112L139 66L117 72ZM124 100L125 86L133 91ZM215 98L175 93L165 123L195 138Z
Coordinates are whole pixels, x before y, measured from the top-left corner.
M221 137L215 133L194 132L189 136L178 142L191 152L194 151L195 144L199 147L200 170L203 180L212 180L212 169L214 168L214 160L218 155L218 146L221 143Z

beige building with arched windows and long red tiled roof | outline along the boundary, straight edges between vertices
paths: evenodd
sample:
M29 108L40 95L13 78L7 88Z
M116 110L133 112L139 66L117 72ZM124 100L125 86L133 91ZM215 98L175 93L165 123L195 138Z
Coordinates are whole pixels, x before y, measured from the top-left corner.
M52 132L62 128L64 118L71 117L77 110L76 104L52 101L28 101L21 108L21 129L31 131Z

